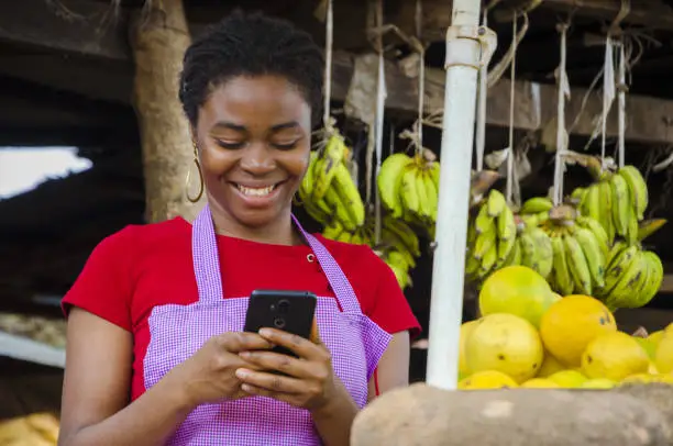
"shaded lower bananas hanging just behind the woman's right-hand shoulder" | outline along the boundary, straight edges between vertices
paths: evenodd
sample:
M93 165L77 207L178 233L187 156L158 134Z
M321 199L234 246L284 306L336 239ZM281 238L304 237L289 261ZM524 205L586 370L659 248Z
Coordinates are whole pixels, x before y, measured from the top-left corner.
M374 225L374 220L369 219L364 225L350 232L338 221L332 221L324 227L322 235L339 242L372 246L393 269L400 288L411 286L409 271L416 267L416 260L421 254L418 235L402 220L385 215L382 220L380 242L377 244Z

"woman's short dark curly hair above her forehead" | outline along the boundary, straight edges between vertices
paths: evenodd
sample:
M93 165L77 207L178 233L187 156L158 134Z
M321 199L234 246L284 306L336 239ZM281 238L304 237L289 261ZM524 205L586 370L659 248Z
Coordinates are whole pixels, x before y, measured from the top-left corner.
M324 59L311 36L290 22L236 10L187 48L179 98L192 125L217 86L238 76L282 76L311 107L312 123L322 113Z

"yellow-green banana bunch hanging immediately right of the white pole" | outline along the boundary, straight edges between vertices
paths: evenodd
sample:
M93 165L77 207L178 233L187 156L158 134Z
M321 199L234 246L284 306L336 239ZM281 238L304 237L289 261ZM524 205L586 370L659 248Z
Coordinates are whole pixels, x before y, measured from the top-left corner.
M492 271L520 261L517 222L503 193L492 189L467 227L465 274L483 280Z

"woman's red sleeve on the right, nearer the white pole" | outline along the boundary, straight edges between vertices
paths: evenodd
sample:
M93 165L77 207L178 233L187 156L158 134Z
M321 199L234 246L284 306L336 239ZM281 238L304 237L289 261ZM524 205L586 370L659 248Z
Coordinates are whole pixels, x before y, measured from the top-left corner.
M388 333L409 331L413 338L421 332L420 324L407 302L402 290L397 283L395 272L371 248L367 247L368 268L372 278L375 278L374 296L371 306L366 310L367 316Z

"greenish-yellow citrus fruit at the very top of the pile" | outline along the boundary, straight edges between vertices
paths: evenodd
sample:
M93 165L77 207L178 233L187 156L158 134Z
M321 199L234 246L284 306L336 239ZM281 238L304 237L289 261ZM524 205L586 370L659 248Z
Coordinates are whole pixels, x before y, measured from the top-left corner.
M515 314L538 327L540 317L555 300L544 277L525 266L508 266L484 281L479 291L479 312L484 316Z

